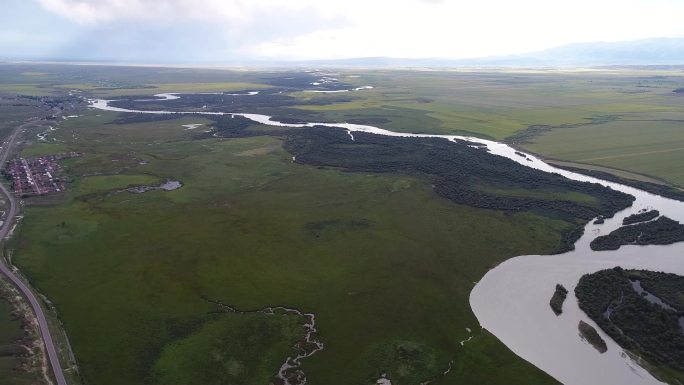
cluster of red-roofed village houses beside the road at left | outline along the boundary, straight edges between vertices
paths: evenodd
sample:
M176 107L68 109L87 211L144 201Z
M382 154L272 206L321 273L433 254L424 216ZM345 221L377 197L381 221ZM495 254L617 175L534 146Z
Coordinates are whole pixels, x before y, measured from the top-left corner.
M12 178L14 193L19 197L30 197L64 191L66 186L59 177L61 167L57 161L78 156L77 152L69 152L11 160L7 174Z

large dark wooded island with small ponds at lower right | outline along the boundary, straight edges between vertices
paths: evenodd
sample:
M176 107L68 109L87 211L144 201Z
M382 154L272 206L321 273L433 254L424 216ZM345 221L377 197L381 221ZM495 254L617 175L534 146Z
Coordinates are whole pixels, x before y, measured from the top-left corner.
M583 276L578 304L620 346L666 380L684 380L684 277L619 267Z

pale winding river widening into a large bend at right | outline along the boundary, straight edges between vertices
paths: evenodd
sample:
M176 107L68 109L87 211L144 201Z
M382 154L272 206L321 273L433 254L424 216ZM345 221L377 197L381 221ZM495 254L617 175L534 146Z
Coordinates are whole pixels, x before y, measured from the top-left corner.
M166 94L169 95L169 94ZM157 100L170 100L160 95ZM179 97L179 94L171 94ZM491 269L475 285L470 294L470 306L480 325L499 338L513 352L567 385L642 385L660 384L636 364L624 351L577 306L574 295L563 305L563 314L556 316L549 300L557 283L571 293L579 278L587 273L622 266L625 269L647 269L684 275L684 243L668 246L623 246L615 251L592 251L591 240L621 226L622 219L644 208L654 208L674 220L684 222L684 202L647 193L619 183L555 168L539 158L494 141L456 135L411 134L378 127L350 123L291 124L273 120L268 115L229 112L144 111L118 108L108 100L91 100L94 108L143 114L199 114L242 116L254 122L283 127L327 126L353 132L368 132L398 137L434 137L447 140L467 140L487 147L490 153L504 156L524 166L544 172L561 174L569 179L599 183L633 195L634 204L607 219L601 225L589 222L585 233L575 244L575 250L561 255L524 255L511 258ZM594 326L606 340L608 351L599 353L578 335L580 320Z

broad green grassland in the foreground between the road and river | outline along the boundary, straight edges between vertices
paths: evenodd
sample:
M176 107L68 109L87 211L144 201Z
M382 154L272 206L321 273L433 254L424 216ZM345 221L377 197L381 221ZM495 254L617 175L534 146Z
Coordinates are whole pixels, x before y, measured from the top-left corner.
M292 163L278 138L191 140L180 127L191 118L106 124L115 116L60 124L55 150L84 153L66 162L74 182L63 203L29 202L13 245L86 383L275 374L292 321L217 316L204 298L315 313L325 349L304 361L313 384L372 384L380 371L414 384L451 360L438 383L554 383L477 328L468 295L493 265L553 249L568 223L456 205L412 177ZM95 172L118 174L81 176ZM114 193L167 177L184 186Z

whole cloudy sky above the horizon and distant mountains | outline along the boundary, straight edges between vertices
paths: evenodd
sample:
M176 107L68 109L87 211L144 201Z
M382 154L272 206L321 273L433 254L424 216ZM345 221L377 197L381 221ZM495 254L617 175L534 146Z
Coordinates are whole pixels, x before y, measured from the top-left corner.
M0 0L0 58L471 58L684 37L682 0ZM201 5L200 5L201 4Z

